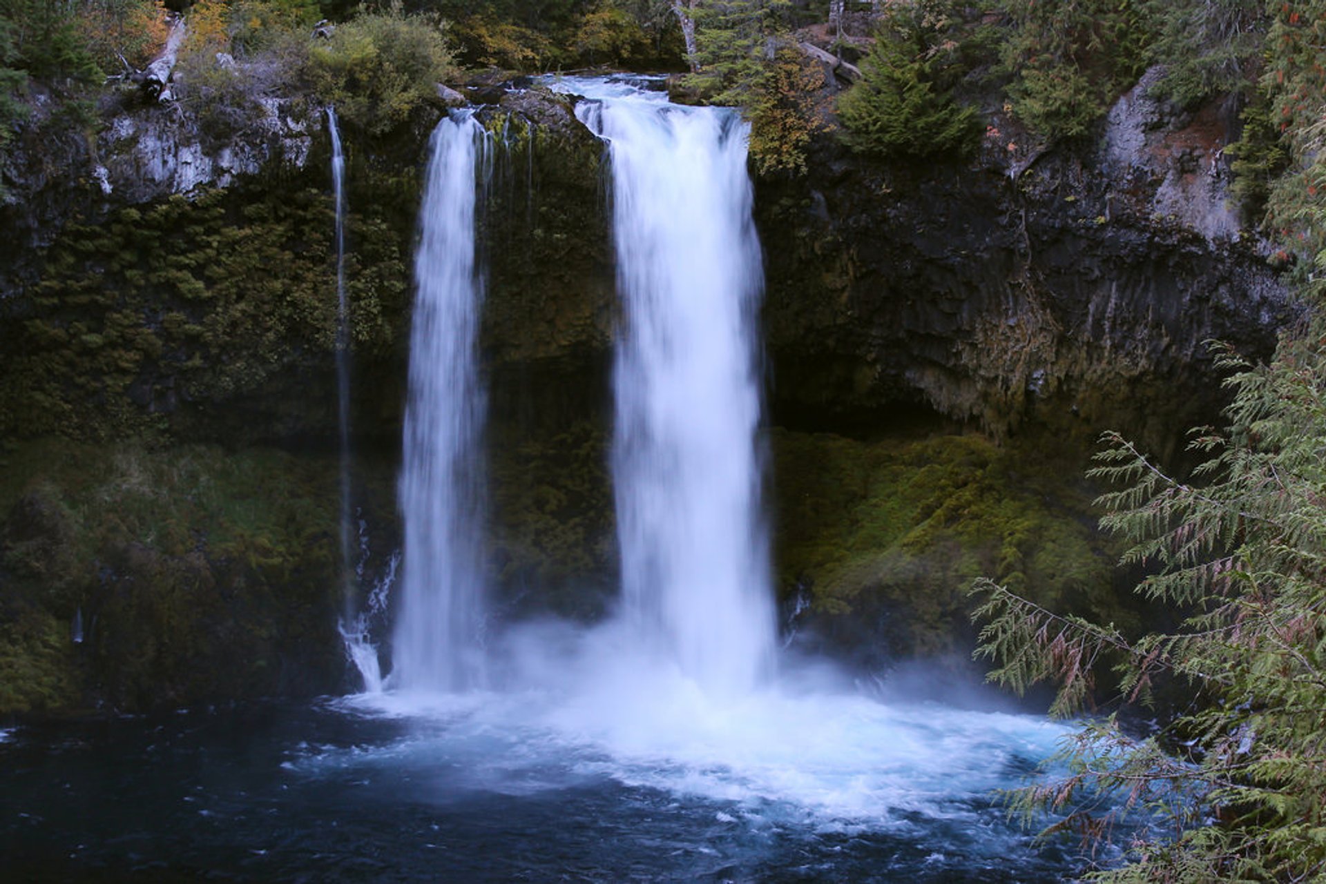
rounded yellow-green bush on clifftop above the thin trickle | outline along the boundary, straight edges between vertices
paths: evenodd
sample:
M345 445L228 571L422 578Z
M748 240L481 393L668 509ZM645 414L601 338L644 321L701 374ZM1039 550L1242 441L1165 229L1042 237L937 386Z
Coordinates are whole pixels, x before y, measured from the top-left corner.
M396 11L361 13L309 53L314 91L371 135L391 131L435 101L436 83L452 73L442 23Z

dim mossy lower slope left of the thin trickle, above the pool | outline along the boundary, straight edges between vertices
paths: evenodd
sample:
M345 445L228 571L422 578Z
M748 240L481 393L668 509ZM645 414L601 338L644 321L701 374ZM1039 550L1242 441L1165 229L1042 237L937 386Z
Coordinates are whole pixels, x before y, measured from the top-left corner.
M42 439L3 467L0 714L335 687L333 457Z

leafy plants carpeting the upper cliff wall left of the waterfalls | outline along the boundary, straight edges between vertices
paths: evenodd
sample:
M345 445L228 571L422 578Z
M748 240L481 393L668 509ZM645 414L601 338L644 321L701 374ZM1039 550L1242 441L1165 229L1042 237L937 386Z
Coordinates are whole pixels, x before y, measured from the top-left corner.
M396 193L367 170L365 187ZM415 204L403 187L399 203ZM390 353L412 217L365 199L349 219L354 346ZM150 432L190 402L248 398L332 353L333 207L321 190L175 196L70 224L46 254L0 376L5 435ZM288 406L285 407L288 408ZM278 432L278 431L277 431Z

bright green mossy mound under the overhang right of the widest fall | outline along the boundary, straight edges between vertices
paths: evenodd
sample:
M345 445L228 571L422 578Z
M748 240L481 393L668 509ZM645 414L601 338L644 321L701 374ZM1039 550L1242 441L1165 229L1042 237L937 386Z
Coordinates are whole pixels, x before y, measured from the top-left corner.
M965 588L994 575L1053 607L1109 611L1116 558L1071 459L979 436L773 436L777 567L829 615L888 610L911 651L949 649ZM1065 481L1065 477L1069 477Z

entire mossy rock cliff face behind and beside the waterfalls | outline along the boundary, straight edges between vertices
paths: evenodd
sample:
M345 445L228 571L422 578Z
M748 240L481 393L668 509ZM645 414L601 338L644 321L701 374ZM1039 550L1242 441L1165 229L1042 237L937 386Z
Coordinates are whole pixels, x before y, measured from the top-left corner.
M491 574L512 615L593 618L614 584L602 147L565 98L489 91ZM94 144L28 143L7 172L0 681L30 689L0 712L335 688L329 146L317 109L264 113L225 142L111 107ZM370 583L396 542L439 113L385 139L346 133ZM1264 355L1289 314L1225 205L1224 109L1167 118L1143 83L1093 148L1029 152L1001 126L971 164L883 167L823 138L808 176L757 183L778 591L812 602L802 634L951 649L976 574L1113 614L1090 489L1063 476L1107 427L1174 451L1216 416L1205 342ZM1005 445L935 435L961 428ZM90 444L57 469L53 435ZM227 669L235 648L247 663Z

